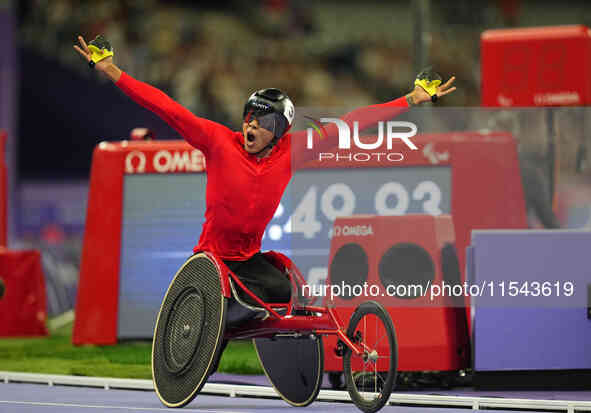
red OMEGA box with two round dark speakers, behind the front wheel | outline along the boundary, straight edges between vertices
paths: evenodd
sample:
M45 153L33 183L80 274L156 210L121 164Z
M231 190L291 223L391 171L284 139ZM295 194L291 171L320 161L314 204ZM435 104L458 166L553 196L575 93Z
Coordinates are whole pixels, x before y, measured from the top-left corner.
M328 282L337 285L342 282L362 285L366 282L368 285L365 296L334 298L334 305L343 322L348 322L354 309L362 302L378 301L386 307L394 322L400 370L457 370L468 367L468 326L462 299L453 302L450 298L435 297L431 300L429 295L411 294L408 288L406 297L400 298L393 296L393 289L388 289L388 286L397 285L441 285L443 281L451 285L461 282L457 256L454 255L456 259L452 265L449 263L450 251L454 253L455 244L449 215L337 218L333 234ZM363 254L367 257L367 272L364 265L359 264L364 260ZM444 265L444 261L448 262ZM398 291L405 294L403 289ZM342 370L342 360L333 351L335 345L336 339L325 339L327 371Z

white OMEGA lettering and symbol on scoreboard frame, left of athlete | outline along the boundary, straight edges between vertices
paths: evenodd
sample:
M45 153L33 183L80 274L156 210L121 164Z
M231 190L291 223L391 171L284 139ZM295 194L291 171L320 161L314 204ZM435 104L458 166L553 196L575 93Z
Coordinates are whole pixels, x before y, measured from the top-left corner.
M194 149L192 151L168 151L160 150L152 158L152 167L155 172L200 172L205 169L205 157ZM128 174L146 172L146 154L140 151L131 151L125 157L125 172Z

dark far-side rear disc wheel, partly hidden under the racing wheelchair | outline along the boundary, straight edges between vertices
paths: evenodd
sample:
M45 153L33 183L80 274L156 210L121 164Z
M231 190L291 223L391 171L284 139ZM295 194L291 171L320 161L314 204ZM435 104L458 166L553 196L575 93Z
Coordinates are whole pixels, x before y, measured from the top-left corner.
M324 373L322 337L252 341L265 375L283 400L296 407L316 400Z

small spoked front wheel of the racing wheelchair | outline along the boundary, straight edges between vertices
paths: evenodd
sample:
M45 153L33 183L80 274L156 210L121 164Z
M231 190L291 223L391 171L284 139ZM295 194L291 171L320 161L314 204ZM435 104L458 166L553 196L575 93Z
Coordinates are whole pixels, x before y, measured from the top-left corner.
M390 314L375 301L361 304L351 316L347 337L364 349L357 356L345 347L347 390L359 409L376 412L386 404L396 382L398 344Z

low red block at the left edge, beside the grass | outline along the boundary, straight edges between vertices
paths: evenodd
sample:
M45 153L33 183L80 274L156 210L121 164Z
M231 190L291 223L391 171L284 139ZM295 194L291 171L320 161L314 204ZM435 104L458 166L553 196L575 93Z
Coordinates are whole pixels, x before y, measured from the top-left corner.
M47 298L39 251L0 248L0 337L47 335Z

